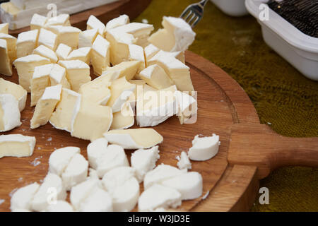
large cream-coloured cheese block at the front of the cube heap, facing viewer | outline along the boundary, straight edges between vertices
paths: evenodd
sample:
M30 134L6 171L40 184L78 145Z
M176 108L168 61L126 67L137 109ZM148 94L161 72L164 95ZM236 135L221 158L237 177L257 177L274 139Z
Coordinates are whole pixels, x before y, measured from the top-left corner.
M94 141L102 138L102 134L110 129L112 108L95 105L83 99L76 105L76 110L71 124L71 136Z

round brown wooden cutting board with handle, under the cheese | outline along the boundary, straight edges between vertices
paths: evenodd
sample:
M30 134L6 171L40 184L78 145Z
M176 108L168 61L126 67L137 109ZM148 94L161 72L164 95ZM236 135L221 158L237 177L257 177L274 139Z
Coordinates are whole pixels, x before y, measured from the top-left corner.
M249 210L257 195L259 179L266 177L272 169L283 165L317 167L318 138L278 136L268 126L259 124L249 97L227 73L192 52L186 53L186 61L198 91L198 119L195 124L180 125L177 117L171 117L154 127L164 138L158 164L177 166L175 157L189 150L196 134L218 134L220 150L211 160L192 161L192 171L203 176L204 192L200 198L183 201L179 210ZM15 70L12 77L1 77L18 82ZM88 141L73 138L50 124L30 130L34 111L29 107L30 95L26 106L21 115L22 126L3 134L35 136L35 152L31 157L0 159L0 199L4 199L0 211L9 210L10 194L14 189L41 182L47 174L49 155L54 149L78 146L81 154L87 157ZM126 154L130 158L131 150L126 150ZM203 198L207 194L207 198Z

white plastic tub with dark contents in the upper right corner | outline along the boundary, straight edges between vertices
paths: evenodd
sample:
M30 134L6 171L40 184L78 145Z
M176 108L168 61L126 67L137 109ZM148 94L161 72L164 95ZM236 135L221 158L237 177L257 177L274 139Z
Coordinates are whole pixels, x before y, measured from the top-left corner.
M269 20L259 20L264 0L246 0L245 5L261 25L264 41L304 76L318 81L318 38L305 35L269 8Z

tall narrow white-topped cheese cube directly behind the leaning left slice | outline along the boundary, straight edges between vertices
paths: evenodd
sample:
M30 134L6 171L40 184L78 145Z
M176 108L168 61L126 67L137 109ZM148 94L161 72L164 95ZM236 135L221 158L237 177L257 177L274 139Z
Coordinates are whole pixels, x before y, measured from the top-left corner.
M53 64L45 64L35 67L31 80L31 107L37 104L37 101L40 99L40 97L42 97L45 88L50 85L49 73L51 72L52 68Z

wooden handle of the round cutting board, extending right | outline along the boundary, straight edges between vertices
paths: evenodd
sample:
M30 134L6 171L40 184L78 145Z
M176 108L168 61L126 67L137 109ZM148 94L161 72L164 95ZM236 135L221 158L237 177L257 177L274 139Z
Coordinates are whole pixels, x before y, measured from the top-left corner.
M255 165L262 179L278 167L318 167L318 138L278 135L267 125L232 126L228 153L230 165Z

